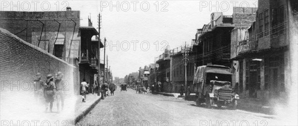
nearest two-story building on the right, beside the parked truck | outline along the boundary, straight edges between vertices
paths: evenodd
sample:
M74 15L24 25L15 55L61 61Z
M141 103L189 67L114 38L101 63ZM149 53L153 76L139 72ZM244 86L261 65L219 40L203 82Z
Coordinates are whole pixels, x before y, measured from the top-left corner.
M239 63L240 91L262 99L284 96L297 82L298 2L258 2L255 22L235 40L231 55Z

